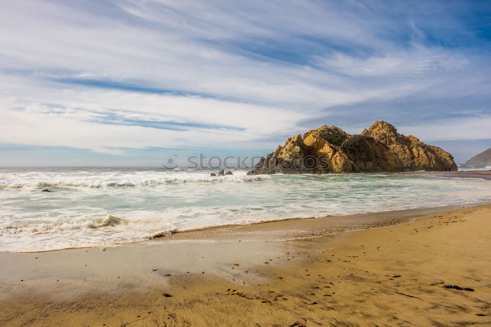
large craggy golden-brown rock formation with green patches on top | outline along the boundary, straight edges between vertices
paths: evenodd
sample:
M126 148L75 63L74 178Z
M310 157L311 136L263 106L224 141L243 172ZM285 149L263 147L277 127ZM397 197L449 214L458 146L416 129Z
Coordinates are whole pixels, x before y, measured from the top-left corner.
M248 174L325 174L382 171L457 170L453 157L416 137L398 134L376 121L361 134L350 135L326 125L286 140L261 158Z

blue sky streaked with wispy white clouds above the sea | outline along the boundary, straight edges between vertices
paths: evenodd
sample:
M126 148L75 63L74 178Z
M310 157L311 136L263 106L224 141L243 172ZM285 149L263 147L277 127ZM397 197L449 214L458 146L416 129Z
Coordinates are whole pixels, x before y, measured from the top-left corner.
M264 155L376 120L491 147L491 1L0 0L0 166Z

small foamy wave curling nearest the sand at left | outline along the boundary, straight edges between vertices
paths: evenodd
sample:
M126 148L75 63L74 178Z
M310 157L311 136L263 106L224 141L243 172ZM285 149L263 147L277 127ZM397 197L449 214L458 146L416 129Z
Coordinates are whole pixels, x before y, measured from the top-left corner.
M101 227L128 224L129 221L116 216L106 218L71 220L63 222L48 222L37 224L8 225L0 227L0 236L19 237L39 234L60 234L73 230L98 229Z

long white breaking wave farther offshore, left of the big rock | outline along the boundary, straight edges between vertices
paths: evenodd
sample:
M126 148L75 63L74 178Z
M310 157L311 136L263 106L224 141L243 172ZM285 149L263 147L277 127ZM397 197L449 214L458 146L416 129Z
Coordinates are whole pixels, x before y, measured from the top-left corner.
M151 179L135 180L55 180L55 181L15 181L0 182L0 189L20 189L24 187L78 187L78 188L111 188L111 187L145 187L161 184L184 183L244 183L271 179L269 175L236 175L236 176L165 176Z

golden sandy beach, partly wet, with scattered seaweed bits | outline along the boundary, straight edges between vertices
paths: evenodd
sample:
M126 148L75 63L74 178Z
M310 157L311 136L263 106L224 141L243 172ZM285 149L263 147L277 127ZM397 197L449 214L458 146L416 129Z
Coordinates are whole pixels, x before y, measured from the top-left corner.
M490 232L485 204L1 252L0 325L490 326Z

